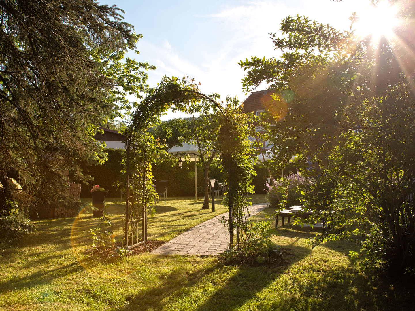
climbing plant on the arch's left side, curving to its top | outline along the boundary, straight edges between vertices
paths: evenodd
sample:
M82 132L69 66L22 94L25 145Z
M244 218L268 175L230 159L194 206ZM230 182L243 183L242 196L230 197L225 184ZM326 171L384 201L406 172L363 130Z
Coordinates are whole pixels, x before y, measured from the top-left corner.
M149 131L157 124L160 116L172 105L184 102L190 104L195 96L183 92L193 89L191 83L180 82L177 78L164 78L156 88L149 89L141 102L134 103L131 121L125 130L125 213L124 245L133 248L147 238L147 211L149 202L156 193L151 173L151 164L166 156L165 145ZM141 239L139 224L141 223ZM141 240L141 241L139 241Z

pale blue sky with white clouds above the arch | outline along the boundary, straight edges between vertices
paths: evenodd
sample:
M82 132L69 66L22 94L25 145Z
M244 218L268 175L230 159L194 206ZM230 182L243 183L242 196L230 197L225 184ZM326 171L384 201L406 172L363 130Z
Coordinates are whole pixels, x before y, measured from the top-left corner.
M369 4L369 0L113 1L101 3L125 10L125 21L143 35L137 44L140 54L128 56L157 66L149 73L150 85L163 75L188 75L202 84L206 94L238 96L241 101L249 94L242 92L244 70L237 62L278 56L268 33L278 34L281 19L300 14L347 29L351 13ZM168 113L162 119L173 117L181 115Z

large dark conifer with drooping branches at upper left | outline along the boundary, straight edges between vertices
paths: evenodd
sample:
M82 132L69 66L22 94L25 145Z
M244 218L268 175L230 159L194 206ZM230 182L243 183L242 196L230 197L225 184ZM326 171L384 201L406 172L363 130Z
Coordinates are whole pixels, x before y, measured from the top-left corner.
M69 169L82 178L80 166L105 156L95 126L117 114L117 86L146 78L120 78L139 39L120 11L93 0L2 1L2 183L17 171L29 192L54 199ZM141 65L149 68L132 63Z

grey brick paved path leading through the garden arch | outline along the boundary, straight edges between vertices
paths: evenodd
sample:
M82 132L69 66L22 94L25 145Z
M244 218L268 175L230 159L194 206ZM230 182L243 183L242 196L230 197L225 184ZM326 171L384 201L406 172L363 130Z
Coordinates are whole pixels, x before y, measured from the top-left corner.
M266 206L267 203L252 205L249 207L249 214L255 215ZM154 250L152 254L216 255L223 253L229 244L229 231L220 222L222 216L229 219L228 212L209 219L168 241Z

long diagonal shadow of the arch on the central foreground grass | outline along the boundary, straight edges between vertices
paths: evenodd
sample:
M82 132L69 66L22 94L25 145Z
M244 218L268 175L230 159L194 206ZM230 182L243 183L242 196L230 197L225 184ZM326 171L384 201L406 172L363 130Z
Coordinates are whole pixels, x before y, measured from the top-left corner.
M299 250L301 248L301 250ZM252 299L270 283L274 282L290 265L295 264L311 250L302 247L293 247L295 252L302 255L288 256L289 264L280 266L248 267L245 265L237 267L237 272L227 279L229 266L215 263L207 268L194 271L186 271L176 268L169 275L163 277L162 282L155 287L139 292L134 297L128 297L129 303L122 308L113 309L119 311L153 310L163 309L167 304L183 301L181 309L189 304L191 310L231 310L242 306L246 301ZM158 256L163 258L164 256ZM277 269L276 269L277 268ZM214 281L210 281L214 280ZM204 287L214 287L213 293L205 292ZM207 299L191 300L190 297L202 296ZM189 301L189 299L191 301ZM200 300L204 301L200 304Z

